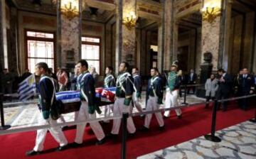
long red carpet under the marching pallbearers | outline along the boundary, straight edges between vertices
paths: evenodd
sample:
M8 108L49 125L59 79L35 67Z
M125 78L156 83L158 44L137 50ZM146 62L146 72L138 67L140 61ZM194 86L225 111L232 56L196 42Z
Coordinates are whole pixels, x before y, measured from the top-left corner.
M139 155L151 153L161 148L173 146L177 143L188 141L198 136L203 136L210 132L211 109L204 109L203 106L196 106L183 109L183 118L176 119L172 112L171 119L165 120L165 131L159 131L156 119L153 117L151 129L149 132L139 132L133 138L127 141L127 158L137 158ZM242 111L237 106L229 106L228 111L218 111L216 129L226 128L242 121L253 118L255 109ZM141 128L143 120L135 118L134 122L137 128ZM105 133L110 132L111 124L104 126ZM121 132L120 132L121 133ZM75 137L75 129L65 131L65 136L70 143ZM16 133L12 135L0 136L1 148L0 158L14 159L27 158L25 153L34 146L36 132ZM102 146L95 146L96 138L86 128L84 146L82 148L70 148L62 152L54 152L54 148L58 147L52 136L48 133L45 143L46 153L36 155L29 158L120 158L121 154L121 136L118 141L109 140Z

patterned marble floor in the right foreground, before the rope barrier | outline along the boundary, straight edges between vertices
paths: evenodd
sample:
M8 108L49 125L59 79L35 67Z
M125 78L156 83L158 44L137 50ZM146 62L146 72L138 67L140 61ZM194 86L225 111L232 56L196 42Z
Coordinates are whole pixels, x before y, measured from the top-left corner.
M201 136L176 146L142 155L138 159L255 159L256 124L245 121L216 132L222 141L213 143Z

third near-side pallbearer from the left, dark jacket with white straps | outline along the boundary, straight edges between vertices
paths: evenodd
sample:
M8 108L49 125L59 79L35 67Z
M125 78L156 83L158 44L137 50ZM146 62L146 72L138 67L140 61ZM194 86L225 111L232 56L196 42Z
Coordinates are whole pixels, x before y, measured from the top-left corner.
M116 89L116 99L114 101L114 116L122 116L122 114L131 114L132 106L132 93L134 92L133 78L132 75L127 72L128 63L122 62L119 65L119 76L117 77L117 89ZM117 136L119 133L119 128L121 125L121 119L114 119L113 127L110 136ZM132 117L129 116L127 119L127 130L130 134L134 134L136 128Z

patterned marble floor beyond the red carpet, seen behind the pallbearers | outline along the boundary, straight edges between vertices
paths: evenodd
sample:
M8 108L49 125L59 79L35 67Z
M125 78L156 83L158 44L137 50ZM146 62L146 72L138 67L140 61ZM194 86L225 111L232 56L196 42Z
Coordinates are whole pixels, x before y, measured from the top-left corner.
M188 104L195 104L203 102L204 99L198 98L194 95L188 95L186 102ZM183 102L183 97L179 99L179 102ZM140 102L142 108L145 107L145 92L142 93L142 100ZM164 107L164 105L161 105ZM105 111L105 106L101 106L102 112ZM134 109L133 112L137 112ZM40 113L36 102L34 104L20 104L20 105L9 105L4 106L4 118L7 125L11 125L11 128L33 126L37 123L37 116ZM110 114L111 116L112 114ZM73 121L74 113L63 114L65 121ZM104 114L97 114L97 117L104 117ZM61 121L60 121L61 122Z

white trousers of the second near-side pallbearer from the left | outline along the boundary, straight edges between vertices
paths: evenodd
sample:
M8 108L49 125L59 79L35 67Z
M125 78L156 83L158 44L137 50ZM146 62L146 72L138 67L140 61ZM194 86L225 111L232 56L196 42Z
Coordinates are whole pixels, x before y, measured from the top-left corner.
M82 104L78 113L78 121L86 121L90 119L96 119L96 112L94 114L89 114L88 103L85 101L82 101ZM77 131L75 134L75 143L82 143L82 138L85 133L86 124L87 123L77 125ZM99 141L105 138L105 133L102 130L102 127L100 126L98 121L90 122L90 127L92 128L92 131L95 133L95 136Z

